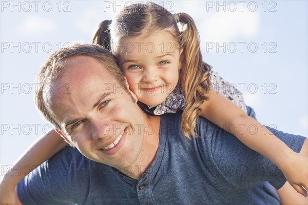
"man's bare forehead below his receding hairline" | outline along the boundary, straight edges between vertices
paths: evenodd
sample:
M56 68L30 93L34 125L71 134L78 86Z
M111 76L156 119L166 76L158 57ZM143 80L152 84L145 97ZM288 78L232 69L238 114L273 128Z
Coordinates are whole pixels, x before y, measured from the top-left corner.
M56 89L44 98L56 111L56 118L62 121L63 113L67 115L84 106L92 108L99 96L110 93L119 85L98 60L77 56L67 60L63 73L53 81L52 87Z

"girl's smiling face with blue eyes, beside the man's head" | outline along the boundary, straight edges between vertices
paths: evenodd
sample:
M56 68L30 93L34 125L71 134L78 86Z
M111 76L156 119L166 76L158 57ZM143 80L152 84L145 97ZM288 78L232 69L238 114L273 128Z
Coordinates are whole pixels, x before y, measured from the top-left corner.
M120 66L129 89L149 106L161 104L175 89L182 67L182 51L167 31L126 37L120 42Z

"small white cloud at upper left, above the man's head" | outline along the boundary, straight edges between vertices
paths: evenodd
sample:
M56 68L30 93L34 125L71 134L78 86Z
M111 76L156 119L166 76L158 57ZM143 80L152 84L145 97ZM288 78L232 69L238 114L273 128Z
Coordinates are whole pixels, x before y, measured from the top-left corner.
M27 16L16 30L23 35L42 35L54 33L57 25L54 20L39 16Z

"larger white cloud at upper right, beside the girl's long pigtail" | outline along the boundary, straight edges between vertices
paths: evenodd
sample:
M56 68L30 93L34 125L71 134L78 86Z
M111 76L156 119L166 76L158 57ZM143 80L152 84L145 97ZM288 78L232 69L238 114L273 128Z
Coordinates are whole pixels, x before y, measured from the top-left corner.
M206 42L230 42L236 37L252 38L259 32L259 13L237 10L217 12L198 28Z

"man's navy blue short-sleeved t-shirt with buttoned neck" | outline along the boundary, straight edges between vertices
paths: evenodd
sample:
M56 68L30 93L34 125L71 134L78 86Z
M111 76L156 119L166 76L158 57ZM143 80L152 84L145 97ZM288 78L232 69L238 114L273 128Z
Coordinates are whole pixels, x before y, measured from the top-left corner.
M200 117L189 140L181 114L161 116L159 148L139 180L67 147L17 186L23 204L279 204L286 179L271 161ZM305 137L271 128L299 152ZM138 171L138 167L123 168Z

